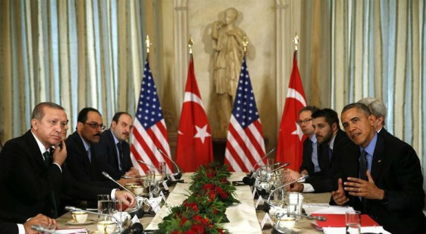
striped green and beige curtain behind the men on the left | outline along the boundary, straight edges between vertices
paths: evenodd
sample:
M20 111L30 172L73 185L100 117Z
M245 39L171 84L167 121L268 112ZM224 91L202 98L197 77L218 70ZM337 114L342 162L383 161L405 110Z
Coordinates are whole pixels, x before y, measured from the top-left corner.
M144 59L143 1L0 1L0 136L30 128L34 105L65 107L70 129L94 107L134 113ZM72 132L71 131L71 132Z

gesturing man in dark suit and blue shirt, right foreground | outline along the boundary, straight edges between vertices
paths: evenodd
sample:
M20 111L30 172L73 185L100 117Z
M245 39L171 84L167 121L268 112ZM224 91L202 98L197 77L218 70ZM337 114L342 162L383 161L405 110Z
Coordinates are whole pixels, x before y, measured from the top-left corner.
M353 206L391 233L426 233L423 175L416 151L391 134L377 134L374 116L362 103L344 107L341 120L359 147L337 165L338 189L332 192L332 204Z

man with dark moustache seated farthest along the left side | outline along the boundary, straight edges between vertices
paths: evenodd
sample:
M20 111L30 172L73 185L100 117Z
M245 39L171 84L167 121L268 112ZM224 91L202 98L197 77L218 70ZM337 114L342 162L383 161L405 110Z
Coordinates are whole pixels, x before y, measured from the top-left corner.
M126 142L132 127L132 116L127 112L117 112L112 117L110 129L103 131L99 143L93 145L99 169L116 180L119 180L121 175L139 176L130 160L130 145Z

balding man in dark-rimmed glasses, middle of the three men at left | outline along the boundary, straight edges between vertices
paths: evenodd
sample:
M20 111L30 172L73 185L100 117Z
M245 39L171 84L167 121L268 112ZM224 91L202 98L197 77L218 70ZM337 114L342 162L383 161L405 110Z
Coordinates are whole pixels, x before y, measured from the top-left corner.
M103 129L105 125L97 109L81 109L77 116L77 130L65 141L68 149L66 163L76 180L100 187L116 188L117 184L102 175L99 157L93 147L101 139ZM130 181L121 179L119 182L125 184Z

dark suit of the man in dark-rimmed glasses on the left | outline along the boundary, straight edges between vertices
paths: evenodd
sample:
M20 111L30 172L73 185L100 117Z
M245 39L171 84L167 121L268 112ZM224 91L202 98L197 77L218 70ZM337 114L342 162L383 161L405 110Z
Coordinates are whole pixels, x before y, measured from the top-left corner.
M80 182L85 182L99 187L117 188L118 186L105 178L99 169L99 162L95 156L93 147L90 147L92 162L85 151L83 140L77 131L68 136L65 141L67 145L67 167L74 178Z

